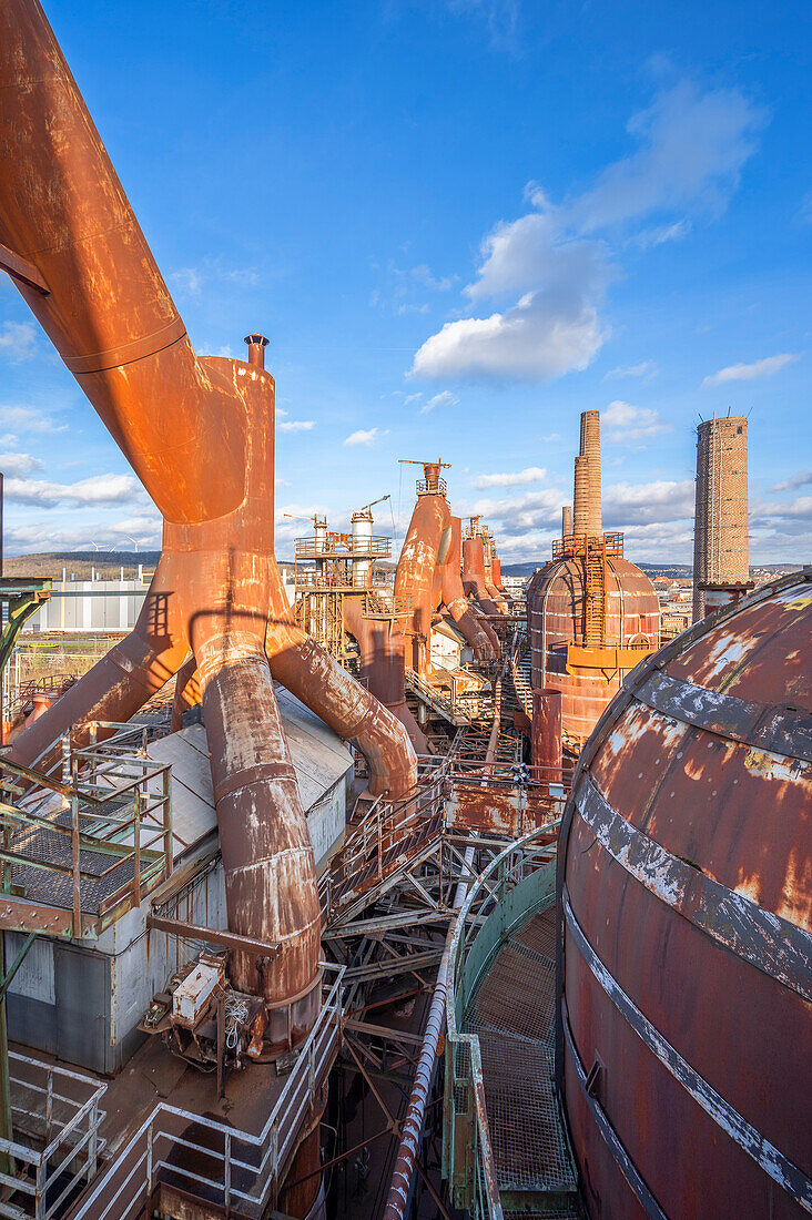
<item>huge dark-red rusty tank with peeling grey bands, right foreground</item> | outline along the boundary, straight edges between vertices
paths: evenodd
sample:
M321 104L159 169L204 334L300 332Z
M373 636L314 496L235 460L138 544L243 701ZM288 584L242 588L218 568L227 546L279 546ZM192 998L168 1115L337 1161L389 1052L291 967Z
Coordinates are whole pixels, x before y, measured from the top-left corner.
M587 742L559 1097L591 1220L812 1211L812 569L696 623Z

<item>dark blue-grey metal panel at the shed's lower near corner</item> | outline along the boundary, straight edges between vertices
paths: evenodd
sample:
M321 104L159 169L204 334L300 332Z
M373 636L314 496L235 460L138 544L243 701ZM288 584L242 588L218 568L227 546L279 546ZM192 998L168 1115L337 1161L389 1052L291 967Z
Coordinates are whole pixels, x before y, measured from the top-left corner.
M90 1071L114 1071L110 959L73 944L59 944L54 964L56 1054Z

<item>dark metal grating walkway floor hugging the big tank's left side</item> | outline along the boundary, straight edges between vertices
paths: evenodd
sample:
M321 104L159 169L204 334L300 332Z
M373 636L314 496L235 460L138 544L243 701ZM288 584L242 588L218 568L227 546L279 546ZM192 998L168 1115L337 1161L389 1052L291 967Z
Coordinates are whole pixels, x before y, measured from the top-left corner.
M480 1039L499 1190L575 1191L553 1096L554 933L549 908L507 939L466 1014Z

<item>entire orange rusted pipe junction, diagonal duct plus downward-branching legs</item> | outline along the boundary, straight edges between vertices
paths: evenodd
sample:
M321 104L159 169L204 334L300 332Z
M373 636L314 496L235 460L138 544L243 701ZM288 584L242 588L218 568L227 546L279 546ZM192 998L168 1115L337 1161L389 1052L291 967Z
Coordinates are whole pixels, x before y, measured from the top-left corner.
M43 295L17 287L164 515L138 623L13 745L31 762L65 731L128 720L197 662L226 872L228 925L278 942L261 971L234 955L297 1037L319 1004L313 848L269 669L370 761L375 791L416 773L399 722L292 622L274 558L274 378L198 357L38 2L0 10L0 239ZM287 1009L287 1011L285 1011ZM270 1039L277 1031L274 1019ZM286 1037L287 1037L286 1030Z

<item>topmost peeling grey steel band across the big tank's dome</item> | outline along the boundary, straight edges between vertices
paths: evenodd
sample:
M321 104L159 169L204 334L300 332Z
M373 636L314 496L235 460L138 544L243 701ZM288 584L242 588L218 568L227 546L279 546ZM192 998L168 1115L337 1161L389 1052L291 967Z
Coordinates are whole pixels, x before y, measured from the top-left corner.
M694 686L656 670L635 697L665 716L756 749L812 761L812 716Z

